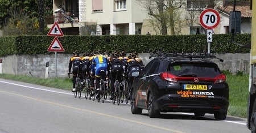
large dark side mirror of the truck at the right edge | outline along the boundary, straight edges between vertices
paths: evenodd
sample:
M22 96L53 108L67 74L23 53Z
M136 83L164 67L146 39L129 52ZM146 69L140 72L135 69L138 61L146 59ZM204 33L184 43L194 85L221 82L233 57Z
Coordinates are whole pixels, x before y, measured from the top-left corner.
M241 33L241 11L230 11L229 14L229 33Z

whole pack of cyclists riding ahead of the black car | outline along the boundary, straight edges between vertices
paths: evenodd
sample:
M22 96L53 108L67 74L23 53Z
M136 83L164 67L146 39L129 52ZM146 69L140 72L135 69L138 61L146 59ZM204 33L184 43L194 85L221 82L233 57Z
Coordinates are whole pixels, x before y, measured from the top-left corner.
M73 66L73 67L72 67ZM96 80L96 90L100 90L100 79L110 79L111 83L118 80L121 83L122 78L126 78L129 89L133 83L134 77L131 75L134 71L141 71L144 67L142 59L138 57L138 53L130 53L126 56L125 52L85 52L83 57L79 56L79 52L73 52L73 56L69 59L68 74L71 74L72 68L72 92L76 91L76 76L79 76L82 84L85 78L90 78L90 89L94 88L94 80ZM111 97L113 100L114 84L110 84ZM92 94L94 95L94 94ZM98 96L96 96L97 98Z

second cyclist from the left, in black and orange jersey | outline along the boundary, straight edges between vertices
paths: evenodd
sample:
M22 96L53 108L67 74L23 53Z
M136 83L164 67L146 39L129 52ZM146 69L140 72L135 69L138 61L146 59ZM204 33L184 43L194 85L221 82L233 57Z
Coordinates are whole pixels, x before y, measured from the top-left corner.
M84 53L84 57L82 57L82 78L90 78L90 61L89 56L90 54L88 52Z

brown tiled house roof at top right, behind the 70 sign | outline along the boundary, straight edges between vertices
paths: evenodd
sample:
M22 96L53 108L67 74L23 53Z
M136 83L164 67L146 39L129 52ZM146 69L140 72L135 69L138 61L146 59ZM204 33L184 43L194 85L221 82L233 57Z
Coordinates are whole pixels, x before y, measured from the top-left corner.
M218 7L218 10L225 12L226 14L229 14L230 11L233 11L233 7L234 7L234 3L229 2L229 3L226 3L226 5L223 7ZM250 1L237 2L236 10L241 11L242 18L251 18Z

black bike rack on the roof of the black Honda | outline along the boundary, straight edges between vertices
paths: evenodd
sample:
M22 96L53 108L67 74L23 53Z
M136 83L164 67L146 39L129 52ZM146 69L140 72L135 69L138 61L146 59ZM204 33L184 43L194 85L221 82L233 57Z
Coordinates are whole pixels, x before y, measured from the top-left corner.
M191 61L193 58L202 58L202 59L219 59L220 62L224 60L221 58L217 58L215 55L208 53L166 53L162 52L161 49L157 50L155 53L150 49L148 50L150 54L149 58L152 57L176 57L176 58L189 58Z

